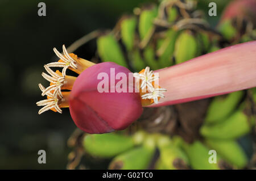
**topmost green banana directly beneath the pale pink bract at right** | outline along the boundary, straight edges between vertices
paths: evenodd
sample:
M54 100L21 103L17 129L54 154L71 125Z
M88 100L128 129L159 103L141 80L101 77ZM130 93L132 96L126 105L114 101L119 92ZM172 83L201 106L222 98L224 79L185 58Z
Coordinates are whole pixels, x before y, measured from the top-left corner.
M208 108L205 123L217 123L228 117L232 112L234 112L235 108L237 108L238 103L241 102L241 99L243 98L243 95L243 91L236 91L226 95L225 98L223 98L223 96L217 96L214 98Z

